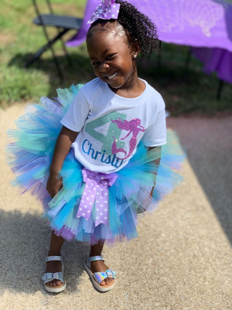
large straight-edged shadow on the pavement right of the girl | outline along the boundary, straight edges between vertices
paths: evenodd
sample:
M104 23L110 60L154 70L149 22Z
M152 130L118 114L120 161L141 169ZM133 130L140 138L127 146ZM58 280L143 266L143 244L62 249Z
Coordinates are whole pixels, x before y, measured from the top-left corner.
M167 125L176 130L191 168L232 244L232 116L167 118Z

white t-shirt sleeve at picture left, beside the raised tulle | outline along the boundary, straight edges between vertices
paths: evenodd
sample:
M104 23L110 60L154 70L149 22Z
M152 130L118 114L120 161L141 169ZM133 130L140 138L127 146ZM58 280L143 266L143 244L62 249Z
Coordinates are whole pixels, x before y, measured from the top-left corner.
M80 132L84 127L89 111L89 103L80 89L60 123L70 130Z

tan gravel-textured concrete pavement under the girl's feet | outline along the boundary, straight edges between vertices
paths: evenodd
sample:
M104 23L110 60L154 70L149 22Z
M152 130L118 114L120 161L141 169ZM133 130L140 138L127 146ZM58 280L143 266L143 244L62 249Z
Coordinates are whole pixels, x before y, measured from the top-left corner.
M0 111L1 310L232 310L232 116L168 118L187 153L185 179L141 217L137 239L104 247L114 289L93 288L83 267L89 246L72 241L62 249L67 287L53 294L41 280L50 229L41 205L9 185L5 160L6 130L24 109Z

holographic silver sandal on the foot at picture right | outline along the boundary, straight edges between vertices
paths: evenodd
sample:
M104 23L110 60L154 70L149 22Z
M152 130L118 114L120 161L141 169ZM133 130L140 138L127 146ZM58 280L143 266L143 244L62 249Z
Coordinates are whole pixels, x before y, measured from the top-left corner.
M107 277L114 279L116 272L111 270L111 269L107 269L104 272L94 272L93 273L92 270L90 269L90 262L99 261L99 260L104 261L104 257L101 255L88 257L87 263L85 262L84 266L85 266L86 271L89 273L89 276L90 276L94 286L96 287L96 289L98 289L101 292L107 292L114 287L114 280L111 281L109 284L106 284L103 286L100 285L100 282L103 281Z

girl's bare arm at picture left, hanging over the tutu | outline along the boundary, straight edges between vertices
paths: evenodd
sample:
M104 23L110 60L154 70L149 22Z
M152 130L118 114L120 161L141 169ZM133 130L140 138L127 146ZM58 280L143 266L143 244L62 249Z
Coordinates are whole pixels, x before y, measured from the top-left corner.
M63 187L62 178L57 179L59 171L62 168L63 161L68 154L71 144L75 141L79 132L72 131L63 126L60 130L50 165L50 174L47 180L47 191L53 198Z

